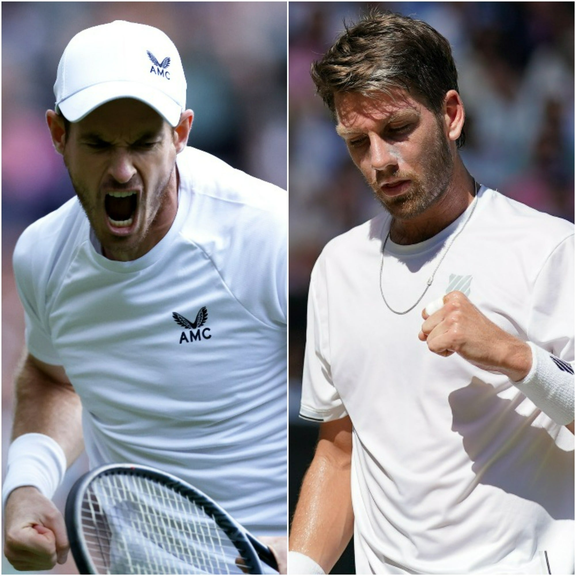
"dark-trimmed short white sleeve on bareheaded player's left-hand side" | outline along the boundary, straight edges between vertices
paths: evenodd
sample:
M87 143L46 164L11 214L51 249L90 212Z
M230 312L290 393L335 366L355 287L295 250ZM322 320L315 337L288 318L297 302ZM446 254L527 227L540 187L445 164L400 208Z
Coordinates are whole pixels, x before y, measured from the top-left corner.
M300 418L315 422L338 420L347 415L346 408L332 381L327 280L321 255L310 279L308 325L302 375Z

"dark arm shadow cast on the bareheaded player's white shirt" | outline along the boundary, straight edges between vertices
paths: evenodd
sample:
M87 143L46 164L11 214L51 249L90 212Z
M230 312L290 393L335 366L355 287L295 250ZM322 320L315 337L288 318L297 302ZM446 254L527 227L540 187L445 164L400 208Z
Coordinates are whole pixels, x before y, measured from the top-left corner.
M514 395L515 390L510 391L512 399L502 399L494 386L472 378L468 386L449 396L452 430L461 435L476 476L463 497L478 483L488 484L536 502L555 520L571 520L574 449L555 438L570 433L538 427L539 410L528 416L518 414L517 408L526 400L520 392Z

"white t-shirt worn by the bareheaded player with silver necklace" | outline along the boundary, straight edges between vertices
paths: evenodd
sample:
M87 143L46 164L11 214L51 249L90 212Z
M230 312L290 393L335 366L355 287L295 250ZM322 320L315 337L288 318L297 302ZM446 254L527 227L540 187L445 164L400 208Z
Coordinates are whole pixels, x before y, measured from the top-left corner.
M386 244L382 291L410 308L448 228ZM574 227L482 188L425 298L392 313L387 214L329 242L310 283L301 416L353 423L358 574L570 574L574 436L502 374L420 342L423 308L460 289L518 338L574 359Z

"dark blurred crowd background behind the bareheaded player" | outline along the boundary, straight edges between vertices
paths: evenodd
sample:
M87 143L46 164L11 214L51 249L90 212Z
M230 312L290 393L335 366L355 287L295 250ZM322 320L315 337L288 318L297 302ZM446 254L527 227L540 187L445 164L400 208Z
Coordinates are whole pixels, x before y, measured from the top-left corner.
M290 2L290 516L318 427L298 419L310 271L326 242L381 210L309 70L370 7L428 22L450 42L476 180L574 221L574 3ZM334 574L353 574L350 547Z

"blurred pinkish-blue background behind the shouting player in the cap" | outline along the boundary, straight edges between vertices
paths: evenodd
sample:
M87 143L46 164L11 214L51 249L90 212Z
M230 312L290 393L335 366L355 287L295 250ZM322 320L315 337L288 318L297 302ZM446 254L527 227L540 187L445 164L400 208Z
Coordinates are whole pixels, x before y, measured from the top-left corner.
M285 2L2 3L2 480L13 375L24 344L14 243L26 226L74 195L44 118L54 109L66 44L113 20L160 28L184 65L187 106L195 113L189 144L286 188L286 13ZM77 461L56 494L61 510L86 465L85 458ZM2 574L15 573L2 556ZM69 559L52 573L77 571Z

